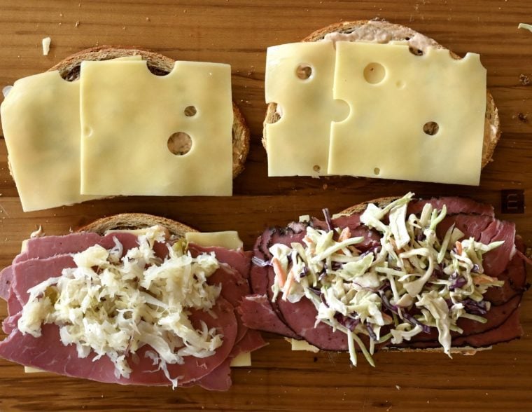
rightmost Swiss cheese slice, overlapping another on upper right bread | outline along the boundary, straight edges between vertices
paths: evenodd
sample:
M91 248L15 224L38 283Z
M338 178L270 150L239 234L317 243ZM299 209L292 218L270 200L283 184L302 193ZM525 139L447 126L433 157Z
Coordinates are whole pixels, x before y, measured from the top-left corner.
M429 48L336 43L334 97L351 112L332 123L330 174L477 185L480 179L486 69L479 55L461 60ZM370 64L384 67L379 83L365 79ZM435 135L423 125L435 122Z

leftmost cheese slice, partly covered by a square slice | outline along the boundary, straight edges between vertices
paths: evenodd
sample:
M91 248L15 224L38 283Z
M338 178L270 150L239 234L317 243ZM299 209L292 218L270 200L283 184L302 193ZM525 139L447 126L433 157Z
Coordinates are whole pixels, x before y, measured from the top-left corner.
M22 78L0 113L25 212L97 197L80 195L79 82L64 81L58 71Z

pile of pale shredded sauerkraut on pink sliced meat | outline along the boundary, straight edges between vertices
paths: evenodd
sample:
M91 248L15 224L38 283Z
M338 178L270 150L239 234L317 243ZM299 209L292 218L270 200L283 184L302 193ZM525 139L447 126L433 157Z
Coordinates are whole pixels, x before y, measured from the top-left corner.
M169 376L168 364L209 357L222 345L215 328L201 322L195 329L188 318L190 310L211 310L221 287L207 284L219 268L214 254L193 258L177 244L158 258L153 247L165 236L160 226L150 228L125 256L116 238L112 249L74 254L76 268L29 289L18 329L38 337L42 324L57 324L64 345L76 345L79 357L109 357L117 378L130 376L127 356L149 345L146 355L175 387L179 377Z

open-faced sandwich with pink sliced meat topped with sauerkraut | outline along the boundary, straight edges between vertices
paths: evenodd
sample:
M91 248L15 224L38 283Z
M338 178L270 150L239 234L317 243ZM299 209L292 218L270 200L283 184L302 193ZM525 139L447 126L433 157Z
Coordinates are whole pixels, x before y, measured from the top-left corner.
M0 274L0 357L105 383L227 390L230 366L265 345L235 310L250 259L235 232L148 214L31 238Z

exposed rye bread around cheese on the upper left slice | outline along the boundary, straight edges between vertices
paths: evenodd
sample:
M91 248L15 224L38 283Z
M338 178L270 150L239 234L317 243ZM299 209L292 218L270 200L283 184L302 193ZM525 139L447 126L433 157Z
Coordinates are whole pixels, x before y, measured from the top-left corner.
M157 76L169 74L174 68L175 60L149 50L122 46L98 46L70 55L48 71L57 70L59 75L66 81L76 81L80 76L80 66L83 60L111 60L132 55L140 55L142 60L146 60L148 69ZM244 163L249 151L250 135L244 116L242 116L235 102L232 104L232 109L232 176L235 179L244 170Z

